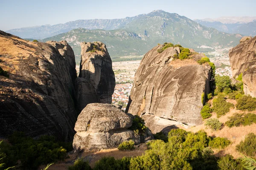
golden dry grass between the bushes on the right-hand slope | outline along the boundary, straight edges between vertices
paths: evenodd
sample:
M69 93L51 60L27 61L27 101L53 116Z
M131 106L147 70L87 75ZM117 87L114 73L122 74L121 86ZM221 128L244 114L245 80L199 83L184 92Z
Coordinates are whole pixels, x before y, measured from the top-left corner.
M209 102L211 102L211 100ZM227 102L230 102L236 105L236 100L227 99ZM230 109L230 112L218 118L218 120L222 123L225 123L229 120L228 117L233 116L235 113L248 113L248 112L236 110L236 108L233 108L233 109ZM256 111L253 111L250 113L256 113ZM216 113L212 113L211 118L217 118ZM204 124L198 125L195 127L190 127L188 129L185 129L185 128L183 129L187 131L192 131L194 133L198 132L199 130L205 130L209 136L223 137L223 138L229 139L232 142L232 144L230 144L228 147L226 147L223 150L215 149L214 150L215 156L224 156L226 154L230 154L234 156L234 158L239 158L241 157L241 155L239 154L238 151L236 151L236 145L239 144L242 140L244 140L245 136L248 133L256 133L256 124L253 124L250 126L239 126L239 127L231 127L231 128L224 126L221 130L218 130L218 131L212 131L211 129L207 129L207 127L205 127Z

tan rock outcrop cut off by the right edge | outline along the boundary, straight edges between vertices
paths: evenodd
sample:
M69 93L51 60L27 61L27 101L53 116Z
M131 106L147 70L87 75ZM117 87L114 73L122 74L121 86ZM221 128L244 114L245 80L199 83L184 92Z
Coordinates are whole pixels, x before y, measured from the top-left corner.
M244 94L256 97L256 37L243 37L240 44L229 51L232 76L242 73Z

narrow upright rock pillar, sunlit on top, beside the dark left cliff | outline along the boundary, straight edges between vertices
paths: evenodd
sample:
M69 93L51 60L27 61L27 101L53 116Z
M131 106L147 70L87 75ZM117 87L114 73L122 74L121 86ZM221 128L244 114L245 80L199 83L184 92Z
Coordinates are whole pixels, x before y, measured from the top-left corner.
M81 42L81 64L76 79L79 111L89 103L111 103L115 75L106 45L102 42Z

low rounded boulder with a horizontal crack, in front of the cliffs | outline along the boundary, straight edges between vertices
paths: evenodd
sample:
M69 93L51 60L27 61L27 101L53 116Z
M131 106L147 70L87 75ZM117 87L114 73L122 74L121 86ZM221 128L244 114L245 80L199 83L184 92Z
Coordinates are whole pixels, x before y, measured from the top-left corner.
M75 150L93 150L117 147L133 140L140 143L140 135L128 130L133 118L111 104L88 104L78 116L73 140Z

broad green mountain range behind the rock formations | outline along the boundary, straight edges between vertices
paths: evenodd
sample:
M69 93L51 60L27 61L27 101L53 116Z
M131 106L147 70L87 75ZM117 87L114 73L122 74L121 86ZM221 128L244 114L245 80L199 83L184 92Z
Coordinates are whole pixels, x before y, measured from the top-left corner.
M163 42L172 42L204 51L202 45L235 46L241 35L227 34L202 26L187 17L162 10L114 20L76 20L64 24L20 28L7 31L23 38L67 40L79 61L81 42L102 41L112 58L140 56ZM52 37L51 37L52 36Z

